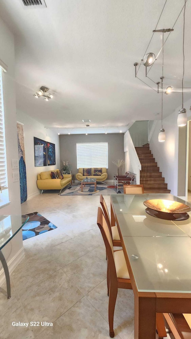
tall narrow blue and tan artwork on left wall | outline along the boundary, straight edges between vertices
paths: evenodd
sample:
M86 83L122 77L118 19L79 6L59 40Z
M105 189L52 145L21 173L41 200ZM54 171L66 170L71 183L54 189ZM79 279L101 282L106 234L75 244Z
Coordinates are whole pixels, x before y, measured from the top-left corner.
M26 186L26 165L24 152L24 133L23 126L19 123L17 123L17 140L19 151L20 194L22 204L27 199L27 186Z

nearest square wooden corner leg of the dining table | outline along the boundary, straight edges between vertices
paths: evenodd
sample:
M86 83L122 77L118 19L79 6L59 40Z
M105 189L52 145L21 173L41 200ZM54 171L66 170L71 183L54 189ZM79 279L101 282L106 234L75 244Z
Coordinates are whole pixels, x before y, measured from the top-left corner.
M134 291L135 339L156 338L156 296L154 293Z

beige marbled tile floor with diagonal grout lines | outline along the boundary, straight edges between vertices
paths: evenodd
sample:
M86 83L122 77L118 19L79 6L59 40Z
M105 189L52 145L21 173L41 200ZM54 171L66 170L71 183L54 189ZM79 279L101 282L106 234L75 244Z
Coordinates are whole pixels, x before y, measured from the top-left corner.
M110 205L110 196L105 196ZM0 287L3 339L106 339L109 337L106 253L96 224L99 196L46 193L22 204L58 228L26 239L25 258L11 275L12 297ZM116 339L134 339L134 297L118 290ZM12 321L53 322L13 327Z

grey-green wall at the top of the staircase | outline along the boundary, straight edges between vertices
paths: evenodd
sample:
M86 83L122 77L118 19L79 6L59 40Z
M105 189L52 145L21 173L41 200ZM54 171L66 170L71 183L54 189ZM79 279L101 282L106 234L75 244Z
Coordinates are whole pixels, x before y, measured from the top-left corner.
M129 133L135 147L148 143L148 120L135 121L129 128Z

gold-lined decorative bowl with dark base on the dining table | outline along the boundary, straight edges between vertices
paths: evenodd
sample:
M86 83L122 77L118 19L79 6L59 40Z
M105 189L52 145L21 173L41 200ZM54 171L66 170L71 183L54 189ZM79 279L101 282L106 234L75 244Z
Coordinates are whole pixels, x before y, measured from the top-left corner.
M190 216L187 212L191 208L181 202L165 200L165 199L152 199L144 201L147 206L146 212L153 217L165 220L186 220Z

